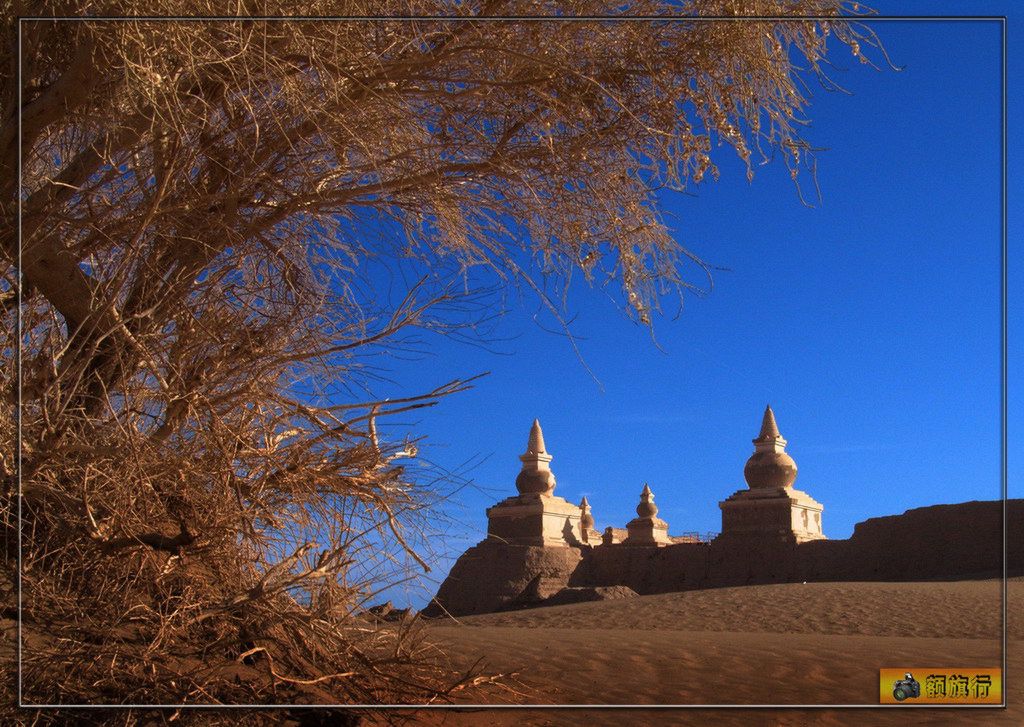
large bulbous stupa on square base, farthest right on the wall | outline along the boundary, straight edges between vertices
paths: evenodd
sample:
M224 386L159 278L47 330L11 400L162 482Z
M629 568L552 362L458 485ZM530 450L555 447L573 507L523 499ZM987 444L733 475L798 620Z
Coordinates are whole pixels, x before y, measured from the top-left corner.
M765 408L754 454L743 467L749 489L740 489L719 503L722 539L757 537L761 540L803 543L823 540L824 507L807 493L794 488L797 463L785 452L775 413Z

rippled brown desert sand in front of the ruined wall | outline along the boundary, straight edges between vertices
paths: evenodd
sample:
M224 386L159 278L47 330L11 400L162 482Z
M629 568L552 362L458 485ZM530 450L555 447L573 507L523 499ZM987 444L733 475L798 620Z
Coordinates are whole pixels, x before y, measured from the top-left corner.
M1010 708L419 711L445 725L1020 725L1024 579L1009 586ZM883 667L997 667L997 580L745 586L438 621L453 666L482 656L488 704L877 704Z

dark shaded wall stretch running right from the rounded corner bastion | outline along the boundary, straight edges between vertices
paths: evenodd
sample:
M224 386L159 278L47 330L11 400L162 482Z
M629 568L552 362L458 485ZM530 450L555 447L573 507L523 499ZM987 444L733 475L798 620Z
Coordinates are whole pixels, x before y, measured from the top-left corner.
M1008 503L1009 569L1024 574L1024 500ZM802 581L922 581L1001 574L999 502L937 505L858 523L845 541L756 539L667 548L596 548L587 584L637 593ZM643 551L643 552L636 552Z

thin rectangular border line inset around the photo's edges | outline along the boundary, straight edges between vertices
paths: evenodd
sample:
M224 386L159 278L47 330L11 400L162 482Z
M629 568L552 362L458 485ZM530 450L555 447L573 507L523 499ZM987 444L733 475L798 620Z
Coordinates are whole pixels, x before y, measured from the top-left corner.
M800 20L828 20L836 23L867 23L867 22L903 22L903 20L940 20L940 22L987 22L987 20L999 20L1001 29L1001 95L1000 95L1000 105L1001 105L1001 134L1000 134L1000 155L1001 155L1001 176L1000 176L1000 212L1001 212L1001 234L1000 234L1000 300L1001 300L1001 310L1000 310L1000 323L1001 323L1001 336L1000 336L1000 353L1001 353L1001 367L1000 367L1000 470L1001 470L1001 496L1002 496L1002 582L1001 582L1001 601L1002 601L1002 650L1001 650L1001 687L1002 687L1002 701L999 704L181 704L181 703L171 703L171 704L133 704L133 703L116 703L116 704L73 704L73 703L27 703L23 699L23 673L22 673L22 654L23 654L23 623L22 623L22 605L23 605L23 594L22 594L22 519L23 519L23 482L22 482L22 292L23 292L23 280L22 280L22 222L23 222L23 200L22 200L22 176L23 176L23 149L22 149L22 102L23 102L23 68L22 68L22 42L23 42L23 23L24 22L162 22L162 20L176 20L176 22L215 22L215 20L226 20L226 22L270 22L270 20L290 20L290 22L307 22L307 20L332 20L332 22L374 22L374 20L435 20L435 22L494 22L494 20L545 20L545 22L581 22L581 20L650 20L650 22L750 22L750 20L771 20L773 23L778 22L800 22ZM15 431L17 435L16 443L16 466L17 466L17 705L18 708L27 709L189 709L189 710L203 710L203 709L246 709L246 710L273 710L273 709L388 709L388 710L465 710L465 709L479 709L479 710L500 710L500 709L653 709L653 710L736 710L736 709L782 709L782 710L795 710L795 709L888 709L888 708L898 708L898 709L1005 709L1008 705L1007 702L1007 666L1008 666L1008 655L1007 655L1007 615L1008 615L1008 562L1007 562L1007 524L1008 524L1008 488L1007 488L1007 296L1008 296L1008 285L1007 285L1007 258L1008 258L1008 224L1007 224L1007 15L865 15L865 16L843 16L843 15L787 15L787 16L773 16L773 15L751 15L751 16L702 16L702 17L685 17L685 16L662 16L662 15L615 15L615 16L580 16L580 17L551 17L551 16L532 16L532 15L520 15L520 16L507 16L507 17L479 17L479 16L450 16L450 15L424 15L424 16L373 16L373 15L361 15L361 16L309 16L309 17L295 17L287 15L267 15L267 16L147 16L147 15L124 15L124 16L17 16L17 42L16 42L16 52L17 52L17 103L18 103L18 116L17 116L17 314L15 316L15 333L17 335L17 345L15 347L15 380L17 382L17 411L16 411L16 424Z

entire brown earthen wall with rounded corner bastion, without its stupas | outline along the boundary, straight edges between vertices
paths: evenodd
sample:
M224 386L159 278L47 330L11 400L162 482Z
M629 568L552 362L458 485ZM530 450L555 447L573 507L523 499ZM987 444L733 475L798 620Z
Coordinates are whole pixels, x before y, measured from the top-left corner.
M563 587L640 594L802 581L921 581L1001 575L1002 504L970 502L858 523L845 541L719 539L663 548L535 548L484 541L457 561L424 611L485 613L543 601ZM1024 574L1024 500L1008 503L1011 574Z

